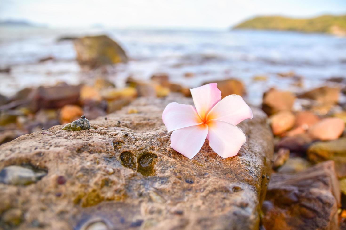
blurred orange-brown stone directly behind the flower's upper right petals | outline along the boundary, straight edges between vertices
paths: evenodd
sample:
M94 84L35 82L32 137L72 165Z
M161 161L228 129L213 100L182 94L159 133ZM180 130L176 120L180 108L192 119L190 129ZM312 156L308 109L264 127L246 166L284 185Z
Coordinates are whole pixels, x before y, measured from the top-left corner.
M240 96L244 96L246 94L243 82L234 78L220 81L205 82L202 84L202 86L209 83L217 83L217 88L221 90L222 98L227 97L231 94L238 94Z

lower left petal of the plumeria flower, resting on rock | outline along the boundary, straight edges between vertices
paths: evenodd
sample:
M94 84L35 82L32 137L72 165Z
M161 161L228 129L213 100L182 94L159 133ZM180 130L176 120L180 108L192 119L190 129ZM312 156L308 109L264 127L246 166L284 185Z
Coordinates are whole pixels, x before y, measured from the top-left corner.
M171 147L191 159L202 148L207 134L208 126L206 124L177 129L172 132Z

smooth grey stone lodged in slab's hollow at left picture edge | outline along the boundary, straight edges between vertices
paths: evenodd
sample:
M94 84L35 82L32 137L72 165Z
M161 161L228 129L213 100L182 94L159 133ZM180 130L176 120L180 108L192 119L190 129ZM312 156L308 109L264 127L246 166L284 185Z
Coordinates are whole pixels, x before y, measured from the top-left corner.
M46 174L47 172L43 170L34 171L22 166L7 166L0 171L0 182L11 185L28 185L39 181Z

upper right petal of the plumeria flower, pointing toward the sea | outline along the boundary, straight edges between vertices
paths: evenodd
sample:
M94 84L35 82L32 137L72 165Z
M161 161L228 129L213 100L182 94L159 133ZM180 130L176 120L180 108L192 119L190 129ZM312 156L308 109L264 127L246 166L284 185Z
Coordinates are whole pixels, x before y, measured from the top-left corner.
M210 110L207 116L207 120L226 121L235 126L247 118L253 118L252 110L243 98L236 94L222 99Z

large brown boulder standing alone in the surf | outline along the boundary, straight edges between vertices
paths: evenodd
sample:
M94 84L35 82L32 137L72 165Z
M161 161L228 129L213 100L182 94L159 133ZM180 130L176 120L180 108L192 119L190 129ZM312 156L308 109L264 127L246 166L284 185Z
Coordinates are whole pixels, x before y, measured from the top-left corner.
M73 43L82 66L95 68L128 61L125 51L106 35L81 37Z

